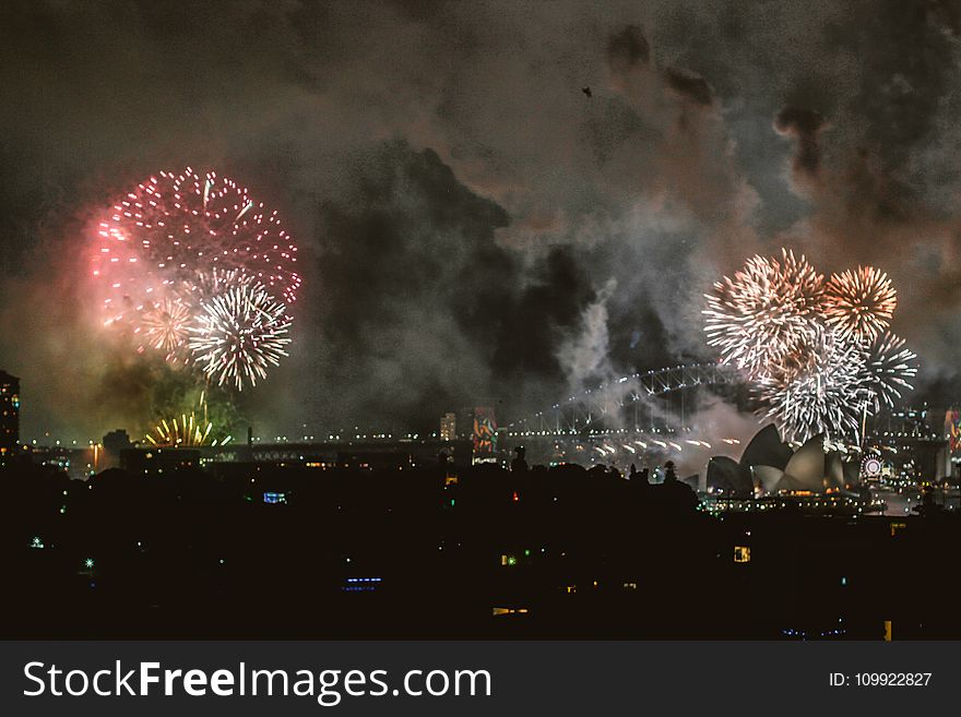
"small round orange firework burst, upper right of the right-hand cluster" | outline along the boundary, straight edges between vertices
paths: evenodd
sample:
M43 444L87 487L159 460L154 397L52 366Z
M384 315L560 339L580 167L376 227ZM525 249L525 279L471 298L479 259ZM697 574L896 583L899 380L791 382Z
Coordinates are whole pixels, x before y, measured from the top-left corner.
M888 275L873 266L834 274L824 290L826 321L845 336L873 342L890 325L897 294Z

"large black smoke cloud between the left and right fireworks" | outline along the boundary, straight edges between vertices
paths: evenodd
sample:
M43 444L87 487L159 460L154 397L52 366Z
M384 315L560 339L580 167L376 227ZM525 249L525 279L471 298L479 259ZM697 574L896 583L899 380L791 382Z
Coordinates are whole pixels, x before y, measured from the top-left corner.
M394 141L352 158L340 201L321 205L325 240L311 275L336 360L315 367L325 401L402 426L513 379L563 387L555 351L578 318L584 279L558 250L524 278L495 240L502 207L477 196L430 150Z

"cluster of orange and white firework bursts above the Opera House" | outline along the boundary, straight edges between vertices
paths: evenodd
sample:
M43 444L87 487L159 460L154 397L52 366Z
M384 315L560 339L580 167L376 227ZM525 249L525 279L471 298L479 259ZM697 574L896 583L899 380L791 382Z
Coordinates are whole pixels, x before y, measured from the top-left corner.
M869 266L824 283L804 256L754 256L716 282L703 314L708 344L754 383L763 415L796 441L855 438L916 375L916 356L887 331L897 303Z

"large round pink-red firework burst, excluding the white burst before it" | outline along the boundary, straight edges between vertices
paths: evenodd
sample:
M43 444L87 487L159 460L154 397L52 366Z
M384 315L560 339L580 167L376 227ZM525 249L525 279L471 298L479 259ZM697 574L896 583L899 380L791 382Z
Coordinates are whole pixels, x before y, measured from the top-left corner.
M197 335L189 327L220 295L256 283L289 307L301 282L297 247L277 212L232 179L190 167L161 171L119 196L100 217L90 252L91 296L103 304L103 325L138 354L165 351L171 365L191 361ZM251 359L254 375L262 373L259 359L271 357L264 348Z

